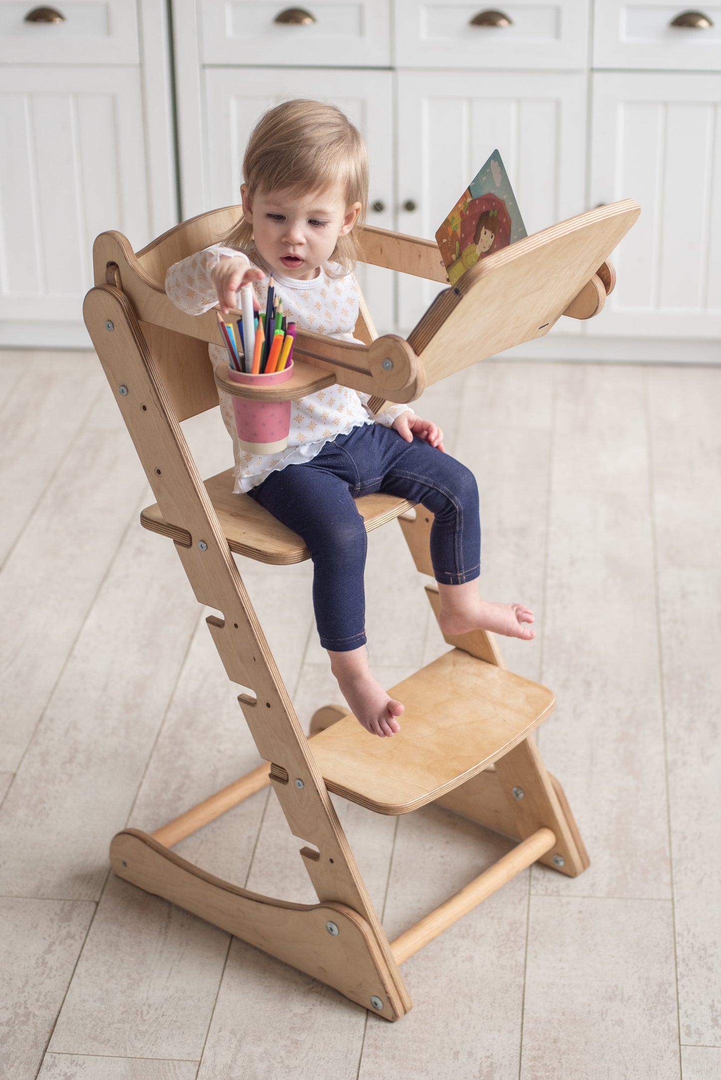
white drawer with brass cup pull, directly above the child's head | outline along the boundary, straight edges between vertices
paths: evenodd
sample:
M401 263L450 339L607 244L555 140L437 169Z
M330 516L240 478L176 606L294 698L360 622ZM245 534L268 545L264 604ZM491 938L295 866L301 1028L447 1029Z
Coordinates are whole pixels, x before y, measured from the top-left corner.
M305 23L285 22L293 12L305 13ZM203 64L297 68L391 62L387 0L302 0L298 6L293 0L201 0L201 21Z

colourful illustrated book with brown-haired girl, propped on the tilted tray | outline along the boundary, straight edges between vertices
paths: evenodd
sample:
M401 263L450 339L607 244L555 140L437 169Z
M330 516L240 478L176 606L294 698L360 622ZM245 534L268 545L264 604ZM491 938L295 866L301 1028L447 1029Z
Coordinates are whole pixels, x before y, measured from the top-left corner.
M501 154L493 150L436 232L451 285L478 259L526 235Z

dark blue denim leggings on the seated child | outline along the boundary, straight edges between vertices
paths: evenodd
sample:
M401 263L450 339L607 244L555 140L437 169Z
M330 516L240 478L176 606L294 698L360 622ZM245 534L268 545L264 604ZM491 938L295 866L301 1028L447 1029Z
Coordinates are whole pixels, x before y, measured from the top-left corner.
M366 644L368 541L353 497L373 491L420 502L435 515L431 558L437 581L459 585L480 572L478 488L465 465L378 423L339 435L311 461L272 472L250 491L305 541L321 645L334 652Z

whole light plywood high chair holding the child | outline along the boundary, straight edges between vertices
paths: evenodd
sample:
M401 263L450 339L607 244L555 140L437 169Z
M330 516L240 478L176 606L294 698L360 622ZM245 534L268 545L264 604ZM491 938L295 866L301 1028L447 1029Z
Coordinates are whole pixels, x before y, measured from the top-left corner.
M289 564L309 552L248 496L232 494L232 470L203 482L179 424L218 404L207 343L222 341L215 312L192 316L174 307L165 271L216 242L237 214L236 206L202 214L137 254L117 232L103 233L94 247L85 323L158 500L141 523L174 541L198 600L222 612L207 625L228 677L244 688L239 702L263 758L154 833L119 833L110 860L127 881L397 1020L411 1008L404 960L536 860L573 877L588 858L531 734L554 696L507 671L489 633L446 636L448 652L391 688L406 706L393 739L369 735L336 705L315 713L310 739L303 733L231 553ZM606 260L638 214L631 200L603 206L481 260L436 298L407 340L377 337L363 302L355 336L366 345L299 332L293 378L261 393L295 399L338 382L370 393L376 409L384 400L410 402L424 386L542 336L561 314L589 318L613 287ZM432 241L369 227L360 241L367 262L446 284ZM217 378L231 393L258 393ZM433 576L426 510L384 494L364 496L357 507L368 530L397 517L418 570ZM425 590L437 616L435 583ZM303 841L317 904L249 892L172 851L269 783ZM435 801L519 842L389 942L329 792L382 814Z

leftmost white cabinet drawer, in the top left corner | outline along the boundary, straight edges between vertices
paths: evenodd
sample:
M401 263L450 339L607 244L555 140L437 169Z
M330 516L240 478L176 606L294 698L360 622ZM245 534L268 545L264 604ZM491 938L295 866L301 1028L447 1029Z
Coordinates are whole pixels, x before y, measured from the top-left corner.
M58 23L28 22L51 6ZM4 64L138 64L135 3L128 0L32 0L0 3L0 62Z

